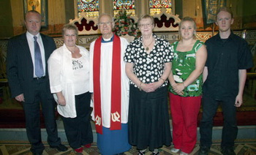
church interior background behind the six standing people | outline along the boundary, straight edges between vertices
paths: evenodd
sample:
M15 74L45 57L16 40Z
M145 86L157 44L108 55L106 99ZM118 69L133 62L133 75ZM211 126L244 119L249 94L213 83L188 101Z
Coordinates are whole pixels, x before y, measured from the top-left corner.
M66 23L73 23L78 26L79 31L77 44L89 50L90 43L100 35L97 22L99 15L102 13L113 15L116 23L113 31L118 36L127 38L129 42L140 37L140 31L137 28L140 15L152 15L155 21L154 34L170 43L179 39L178 25L182 18L189 16L197 24L196 38L205 42L218 33L218 26L214 23L215 13L222 6L230 7L233 10L234 23L231 29L248 42L254 60L255 66L247 70L244 105L237 108L237 118L239 126L238 140L249 140L250 143L255 143L252 150L256 154L255 0L1 0L0 145L2 142L9 142L8 140L27 141L23 107L21 102L11 98L6 75L8 39L26 32L24 15L27 11L37 10L41 13L42 28L40 32L53 37L57 48L63 45L62 27ZM120 22L121 20L124 20L124 23ZM124 27L127 27L127 29L123 29ZM201 112L202 110L200 110L198 116L198 124L200 124ZM42 135L46 137L46 132L43 130L43 119L41 121ZM67 141L58 113L56 113L56 121L58 122L61 139ZM214 118L214 140L221 139L222 124L222 110L219 108ZM95 136L94 130L94 142L96 143ZM45 138L43 140L46 141Z

